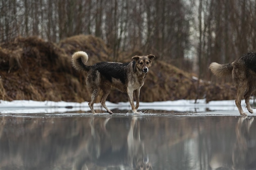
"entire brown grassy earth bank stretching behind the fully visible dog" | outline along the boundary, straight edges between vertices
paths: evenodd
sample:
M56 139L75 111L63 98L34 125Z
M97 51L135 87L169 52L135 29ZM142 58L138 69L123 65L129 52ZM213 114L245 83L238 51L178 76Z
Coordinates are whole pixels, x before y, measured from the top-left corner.
M103 40L92 35L73 36L59 44L37 37L17 38L1 44L0 99L89 101L86 74L72 68L71 55L76 51L88 53L88 65L112 61L110 49ZM133 54L119 57L120 62L130 62ZM143 102L195 98L211 101L234 97L235 89L228 84L215 85L201 81L197 86L197 80L190 73L157 59L153 61L141 88ZM112 90L107 100L127 102L128 98L126 94Z

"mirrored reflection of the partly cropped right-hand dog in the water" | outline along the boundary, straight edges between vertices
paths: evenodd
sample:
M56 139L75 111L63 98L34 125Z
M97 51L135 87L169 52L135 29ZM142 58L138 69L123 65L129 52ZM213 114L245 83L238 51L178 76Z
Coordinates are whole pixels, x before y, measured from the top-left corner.
M254 118L242 116L236 124L236 141L231 152L213 153L209 165L212 170L255 169L255 144L252 144L249 130Z

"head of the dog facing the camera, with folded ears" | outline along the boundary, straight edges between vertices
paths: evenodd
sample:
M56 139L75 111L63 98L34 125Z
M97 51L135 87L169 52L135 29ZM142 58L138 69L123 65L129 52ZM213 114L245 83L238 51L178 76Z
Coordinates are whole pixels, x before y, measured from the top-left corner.
M132 57L132 60L136 62L136 67L138 70L143 73L148 73L148 68L150 68L152 60L155 58L155 55L146 55L146 56L138 56L135 55Z

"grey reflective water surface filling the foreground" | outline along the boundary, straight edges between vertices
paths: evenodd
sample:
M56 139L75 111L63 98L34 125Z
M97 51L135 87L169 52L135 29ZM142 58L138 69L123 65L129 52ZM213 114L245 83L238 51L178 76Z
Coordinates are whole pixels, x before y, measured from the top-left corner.
M4 115L1 170L256 169L254 117Z

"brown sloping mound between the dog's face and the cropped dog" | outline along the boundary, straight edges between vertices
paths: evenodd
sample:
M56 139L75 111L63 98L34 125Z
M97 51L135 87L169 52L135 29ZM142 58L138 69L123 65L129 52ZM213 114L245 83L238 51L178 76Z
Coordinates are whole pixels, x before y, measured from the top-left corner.
M200 80L198 85L198 80L192 74L163 61L153 63L141 91L141 99L145 102L155 99L167 101L204 98L209 102L234 99L236 95L235 88L229 84L212 84Z

